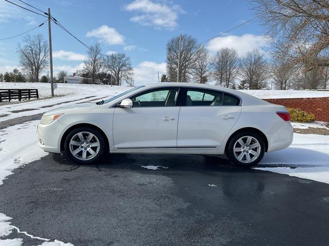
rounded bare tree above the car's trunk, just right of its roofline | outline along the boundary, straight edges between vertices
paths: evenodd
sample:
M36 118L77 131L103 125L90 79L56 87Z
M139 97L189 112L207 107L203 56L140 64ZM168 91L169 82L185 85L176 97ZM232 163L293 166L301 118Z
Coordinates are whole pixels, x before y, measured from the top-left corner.
M252 50L241 59L241 76L249 85L249 90L259 90L266 86L267 62L259 50Z

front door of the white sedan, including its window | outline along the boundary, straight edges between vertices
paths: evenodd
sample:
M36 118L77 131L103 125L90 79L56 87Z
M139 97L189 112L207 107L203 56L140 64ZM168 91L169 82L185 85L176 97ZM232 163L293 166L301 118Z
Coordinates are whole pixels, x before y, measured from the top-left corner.
M116 107L113 138L116 150L177 149L178 87L150 89L131 96L133 108Z

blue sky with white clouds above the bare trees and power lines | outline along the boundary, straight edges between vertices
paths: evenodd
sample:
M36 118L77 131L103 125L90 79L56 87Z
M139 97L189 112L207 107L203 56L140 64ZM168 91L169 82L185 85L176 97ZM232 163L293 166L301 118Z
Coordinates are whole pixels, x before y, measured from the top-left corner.
M28 7L18 0L12 2ZM45 11L49 7L52 16L84 43L100 42L103 53L125 52L132 60L135 84L156 82L157 71L165 72L166 44L170 38L186 33L203 42L254 16L249 3L243 0L24 2ZM27 31L44 20L43 16L0 0L0 38ZM59 70L71 73L81 69L86 49L53 23L51 31L54 74ZM48 40L47 25L30 32L37 33ZM0 72L19 68L16 46L21 39L22 36L0 40ZM267 41L259 20L255 20L205 45L211 53L222 47L232 47L244 55L253 48L264 48Z

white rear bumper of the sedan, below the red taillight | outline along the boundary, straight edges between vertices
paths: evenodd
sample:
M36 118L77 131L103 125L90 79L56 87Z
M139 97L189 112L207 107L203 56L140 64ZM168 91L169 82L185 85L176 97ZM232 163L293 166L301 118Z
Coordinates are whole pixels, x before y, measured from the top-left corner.
M266 134L268 140L267 152L282 150L293 142L294 129L290 122L285 121L276 133Z

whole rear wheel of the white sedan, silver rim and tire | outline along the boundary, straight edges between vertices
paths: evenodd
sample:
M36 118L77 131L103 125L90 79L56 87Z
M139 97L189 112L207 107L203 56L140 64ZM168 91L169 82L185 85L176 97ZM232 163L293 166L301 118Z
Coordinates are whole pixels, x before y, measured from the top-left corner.
M235 165L250 167L262 160L264 152L264 139L257 133L246 131L230 139L226 155Z

